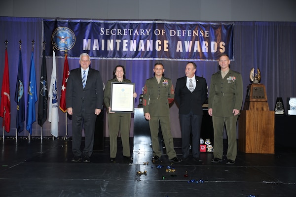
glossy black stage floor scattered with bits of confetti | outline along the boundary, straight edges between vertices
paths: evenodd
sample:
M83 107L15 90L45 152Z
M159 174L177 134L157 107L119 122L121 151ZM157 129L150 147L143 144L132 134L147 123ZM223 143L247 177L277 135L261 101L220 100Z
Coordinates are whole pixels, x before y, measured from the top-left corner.
M0 197L296 197L295 150L238 152L234 165L212 164L209 152L201 164L170 164L165 154L152 164L146 146L129 164L118 142L118 163L110 164L108 144L91 163L71 163L71 140L1 139ZM180 146L175 139L179 158Z

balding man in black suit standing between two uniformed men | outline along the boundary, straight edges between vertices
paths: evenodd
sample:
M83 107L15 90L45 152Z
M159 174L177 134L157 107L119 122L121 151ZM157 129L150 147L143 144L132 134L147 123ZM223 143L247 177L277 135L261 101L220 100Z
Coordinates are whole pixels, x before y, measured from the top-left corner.
M175 100L179 105L179 118L182 132L182 161L188 161L190 133L192 133L193 161L199 159L200 129L202 123L202 105L207 99L206 79L195 75L196 64L188 62L185 77L177 79Z

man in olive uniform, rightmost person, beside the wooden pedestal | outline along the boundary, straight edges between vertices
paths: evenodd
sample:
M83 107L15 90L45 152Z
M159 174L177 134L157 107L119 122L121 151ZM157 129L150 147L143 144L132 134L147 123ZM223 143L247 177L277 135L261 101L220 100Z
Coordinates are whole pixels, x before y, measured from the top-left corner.
M243 80L239 72L229 69L229 64L228 55L222 54L219 59L221 71L214 73L211 78L208 113L212 116L214 127L212 163L222 162L224 125L228 137L226 164L234 164L237 154L236 122L242 107Z

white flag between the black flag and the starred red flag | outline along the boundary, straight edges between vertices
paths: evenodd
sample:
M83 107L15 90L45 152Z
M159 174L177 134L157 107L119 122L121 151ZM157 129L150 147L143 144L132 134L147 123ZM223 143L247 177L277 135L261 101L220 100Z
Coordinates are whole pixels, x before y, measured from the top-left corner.
M50 87L48 92L49 97L49 113L48 113L48 122L50 125L50 133L58 137L58 122L59 122L59 105L58 105L58 91L57 91L57 71L56 71L56 60L55 52L53 51L53 60L52 60L52 73L50 78Z

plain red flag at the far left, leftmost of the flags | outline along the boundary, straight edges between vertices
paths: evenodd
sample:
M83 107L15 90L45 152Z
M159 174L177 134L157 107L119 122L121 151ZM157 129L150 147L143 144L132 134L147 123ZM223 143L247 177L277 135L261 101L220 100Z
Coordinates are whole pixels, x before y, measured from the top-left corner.
M5 118L4 118L4 114L5 114ZM2 89L1 89L0 117L4 118L3 126L5 126L5 131L9 132L10 131L10 90L9 90L7 49L5 49L5 66L4 66Z

